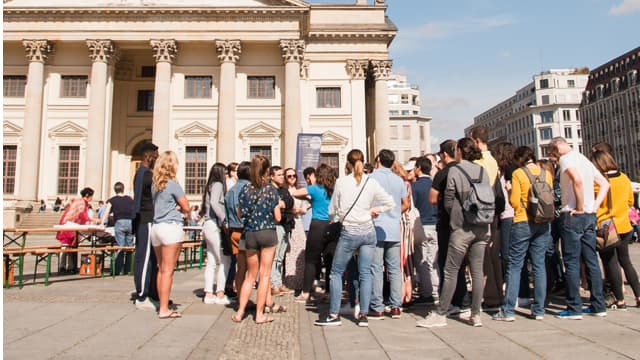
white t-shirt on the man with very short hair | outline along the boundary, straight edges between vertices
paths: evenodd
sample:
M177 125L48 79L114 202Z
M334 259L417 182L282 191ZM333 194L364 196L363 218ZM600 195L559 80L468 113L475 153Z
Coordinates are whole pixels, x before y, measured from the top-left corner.
M576 208L576 195L573 192L573 183L566 170L573 168L582 178L582 198L584 199L584 212L595 213L594 181L598 173L595 165L579 152L572 150L560 157L560 190L562 191L561 212L569 212Z

